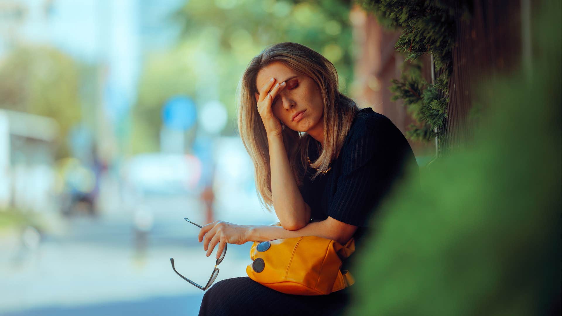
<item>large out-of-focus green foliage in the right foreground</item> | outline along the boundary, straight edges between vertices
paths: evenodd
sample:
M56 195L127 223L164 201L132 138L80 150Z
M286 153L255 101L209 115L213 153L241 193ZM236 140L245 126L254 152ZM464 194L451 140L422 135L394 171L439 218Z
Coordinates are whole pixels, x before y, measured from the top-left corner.
M349 315L560 315L560 1L542 9L532 73L479 83L476 145L373 218Z

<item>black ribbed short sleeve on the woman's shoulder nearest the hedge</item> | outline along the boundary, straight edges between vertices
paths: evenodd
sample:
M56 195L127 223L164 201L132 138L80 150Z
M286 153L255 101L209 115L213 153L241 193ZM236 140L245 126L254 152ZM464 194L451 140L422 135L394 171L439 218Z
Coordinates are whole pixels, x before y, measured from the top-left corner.
M381 137L365 134L342 152L342 173L328 208L328 216L340 222L368 227L370 215L391 187L387 147Z

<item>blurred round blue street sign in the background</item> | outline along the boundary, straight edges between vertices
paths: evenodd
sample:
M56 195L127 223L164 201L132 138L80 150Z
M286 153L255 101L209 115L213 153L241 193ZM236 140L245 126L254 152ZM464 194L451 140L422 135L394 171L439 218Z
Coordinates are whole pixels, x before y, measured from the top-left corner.
M162 107L162 121L167 128L187 130L197 120L197 109L191 98L177 96L170 98Z

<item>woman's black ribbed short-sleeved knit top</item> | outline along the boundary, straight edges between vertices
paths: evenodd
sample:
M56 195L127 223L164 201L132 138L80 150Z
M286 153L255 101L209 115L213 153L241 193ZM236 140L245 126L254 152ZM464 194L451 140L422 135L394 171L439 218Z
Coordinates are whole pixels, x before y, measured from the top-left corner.
M310 161L318 159L319 150L320 142L312 138ZM392 121L370 107L357 111L332 169L314 181L310 176L315 170L310 166L306 170L300 191L311 208L311 220L330 216L359 226L354 236L358 247L371 216L407 164L417 166L414 152Z

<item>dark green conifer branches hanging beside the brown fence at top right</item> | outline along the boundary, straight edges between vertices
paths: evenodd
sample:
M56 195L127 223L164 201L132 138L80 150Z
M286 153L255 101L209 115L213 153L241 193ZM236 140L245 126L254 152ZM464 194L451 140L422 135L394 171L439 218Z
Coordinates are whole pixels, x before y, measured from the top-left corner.
M433 56L436 72L442 69L435 84L425 81L421 73L402 71L400 79L393 79L393 101L404 105L417 121L406 132L413 140L430 141L438 137L447 117L448 77L452 72L452 48L455 45L455 10L470 15L470 1L449 0L361 0L362 7L374 12L383 26L400 28L402 34L395 44L397 52L407 61L420 56ZM438 91L443 92L439 98Z

